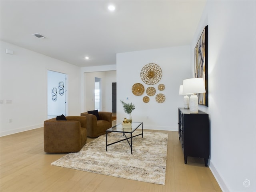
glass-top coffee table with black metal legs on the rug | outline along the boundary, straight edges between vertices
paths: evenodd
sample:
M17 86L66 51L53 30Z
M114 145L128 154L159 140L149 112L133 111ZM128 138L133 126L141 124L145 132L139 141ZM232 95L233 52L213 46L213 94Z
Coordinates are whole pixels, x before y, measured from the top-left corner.
M132 136L132 133L139 126L141 126L141 134L137 134L137 135ZM108 144L108 133L111 133L111 132L122 133L125 138L122 139L122 140L116 141L114 143ZM127 137L126 134L130 134L130 137ZM130 145L131 154L132 154L132 138L134 138L136 136L139 136L139 135L142 135L142 137L143 137L143 122L132 122L132 127L131 128L122 128L122 123L119 123L119 124L113 126L112 128L109 128L109 129L106 130L106 151L108 151L108 146L110 146L112 144L116 144L116 143L124 141L124 140L127 140L128 144ZM129 139L130 139L130 141L129 141Z

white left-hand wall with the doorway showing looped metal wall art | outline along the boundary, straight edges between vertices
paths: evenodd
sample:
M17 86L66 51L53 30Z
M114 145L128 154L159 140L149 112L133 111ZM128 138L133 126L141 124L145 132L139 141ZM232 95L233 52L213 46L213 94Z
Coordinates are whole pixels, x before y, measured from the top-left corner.
M6 48L13 50L13 55L6 54ZM80 116L79 67L3 41L0 53L1 136L43 126L47 119L47 70L68 74L67 115Z

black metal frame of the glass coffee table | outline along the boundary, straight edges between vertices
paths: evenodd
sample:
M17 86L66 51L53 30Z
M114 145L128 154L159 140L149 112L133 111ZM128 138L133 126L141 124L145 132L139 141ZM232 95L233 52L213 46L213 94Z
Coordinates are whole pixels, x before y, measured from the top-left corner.
M132 132L128 132L128 131L108 131L106 130L106 151L108 151L108 146L112 145L112 144L116 144L118 142L121 142L121 141L124 141L124 140L127 140L128 144L130 145L130 148L131 148L131 154L132 154L132 138L136 137L136 136L139 136L139 135L142 135L142 138L143 138L143 122L136 122L136 123L140 123L136 129L134 129ZM118 124L119 125L119 124ZM141 134L138 134L138 135L134 135L132 136L132 133L137 130L137 128L141 125L141 130L142 130L142 133ZM117 125L116 125L117 126ZM115 127L115 126L114 126ZM114 128L112 127L112 128ZM114 143L110 143L108 144L108 133L111 133L111 132L118 132L118 133L123 133L123 136L125 136L125 139L122 139L122 140L119 140L119 141L116 141ZM126 136L126 133L130 134L130 137L127 137ZM131 142L129 142L128 139L131 139Z

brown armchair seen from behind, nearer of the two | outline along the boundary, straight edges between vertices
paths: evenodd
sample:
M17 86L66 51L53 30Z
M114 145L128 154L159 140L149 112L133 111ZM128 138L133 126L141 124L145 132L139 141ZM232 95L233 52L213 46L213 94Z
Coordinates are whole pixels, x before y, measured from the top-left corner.
M66 119L44 121L44 152L78 152L86 144L86 117L66 116Z

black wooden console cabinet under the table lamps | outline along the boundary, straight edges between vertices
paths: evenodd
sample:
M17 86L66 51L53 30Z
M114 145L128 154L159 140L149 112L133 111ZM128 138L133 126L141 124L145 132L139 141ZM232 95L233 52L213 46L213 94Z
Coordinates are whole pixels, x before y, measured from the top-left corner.
M204 165L208 166L210 151L209 116L198 110L198 114L191 114L189 109L179 108L179 139L184 153L184 162L188 156L204 158Z

